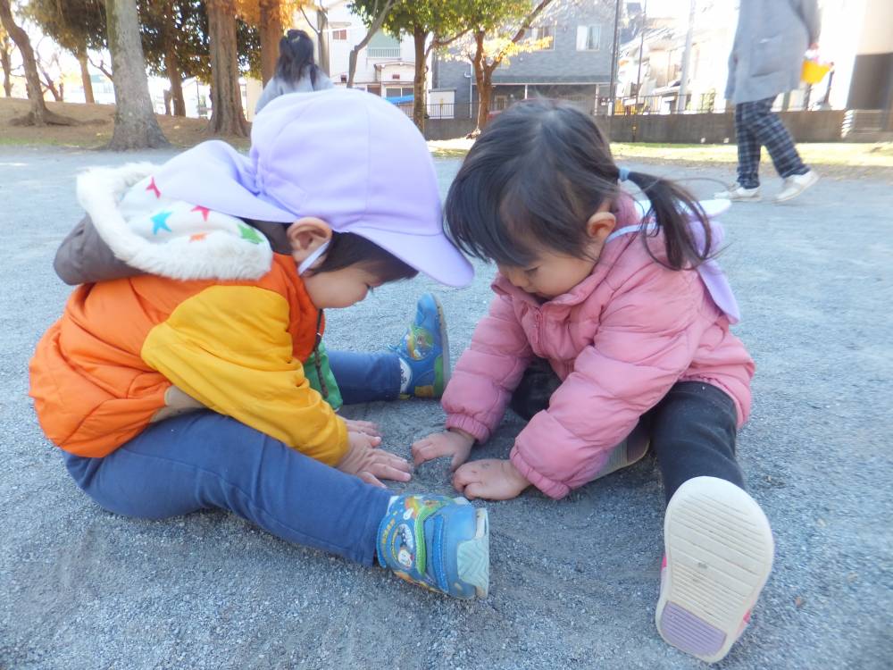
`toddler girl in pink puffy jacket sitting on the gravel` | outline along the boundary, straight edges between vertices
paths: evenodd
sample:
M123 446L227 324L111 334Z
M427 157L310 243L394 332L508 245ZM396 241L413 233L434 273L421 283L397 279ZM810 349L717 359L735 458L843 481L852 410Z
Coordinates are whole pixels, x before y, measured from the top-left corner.
M624 180L650 200L644 216ZM545 100L488 125L446 216L459 247L497 263L496 297L447 386L447 430L416 442L415 462L452 456L467 498L531 484L563 498L650 445L668 500L658 631L725 657L774 545L735 458L754 364L729 330L719 229L684 189L618 169L590 116ZM509 458L465 463L508 406L529 420Z

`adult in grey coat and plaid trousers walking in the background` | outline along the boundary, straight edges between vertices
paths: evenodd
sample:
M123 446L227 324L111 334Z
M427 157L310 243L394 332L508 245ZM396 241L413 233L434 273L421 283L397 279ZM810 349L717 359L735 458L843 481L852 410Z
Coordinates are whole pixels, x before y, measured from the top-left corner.
M716 197L760 199L763 146L784 180L776 202L799 196L819 180L772 112L776 96L799 87L805 51L817 46L819 27L818 0L740 0L725 94L735 104L738 183Z

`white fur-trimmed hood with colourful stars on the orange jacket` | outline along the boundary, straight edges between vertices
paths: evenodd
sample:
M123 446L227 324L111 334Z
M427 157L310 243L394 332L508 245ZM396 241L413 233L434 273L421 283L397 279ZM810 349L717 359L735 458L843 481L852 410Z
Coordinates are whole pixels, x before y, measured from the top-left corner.
M129 163L79 176L78 201L95 234L82 235L79 246L67 244L70 236L60 255L79 258L57 255L57 271L75 263L88 275L111 276L107 268L89 267L109 260L130 270L117 276L136 270L178 280L251 280L270 271L273 252L264 235L235 216L165 197L154 181L157 170Z

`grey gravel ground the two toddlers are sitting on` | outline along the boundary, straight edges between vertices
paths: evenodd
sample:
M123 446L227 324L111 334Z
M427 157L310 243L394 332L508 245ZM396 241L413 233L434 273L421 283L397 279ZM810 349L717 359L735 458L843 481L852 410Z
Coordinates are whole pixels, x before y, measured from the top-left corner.
M490 504L491 595L473 603L232 515L138 521L80 493L27 398L29 356L69 292L50 262L79 218L79 168L168 155L0 148L0 667L703 667L655 631L663 510L650 458L560 502L529 492ZM457 166L438 161L445 188ZM882 181L826 180L797 204L736 205L724 218L737 332L758 366L739 453L778 549L751 629L719 667L861 670L893 657L890 204ZM377 290L330 314L329 346L395 341L415 297L435 289L458 356L491 275L480 266L462 291L421 279ZM351 413L380 422L405 455L443 420L426 401ZM507 419L477 453L505 455L519 428ZM446 466L421 468L411 488L448 492Z

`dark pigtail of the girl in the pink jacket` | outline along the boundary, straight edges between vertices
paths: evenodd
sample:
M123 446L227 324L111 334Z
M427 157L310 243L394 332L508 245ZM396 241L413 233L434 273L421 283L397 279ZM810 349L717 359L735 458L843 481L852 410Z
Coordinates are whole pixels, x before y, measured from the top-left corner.
M710 221L704 208L689 191L670 180L643 172L629 172L625 176L641 188L651 201L651 209L645 219L652 219L656 226L643 227L641 235L648 255L656 263L671 270L692 270L711 257L713 239ZM699 236L692 230L696 225L704 230L703 244L699 243ZM647 244L647 236L654 237L660 231L663 231L666 262L655 258Z

